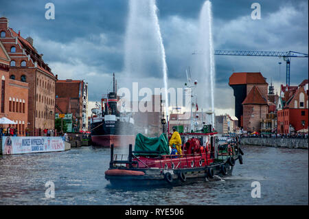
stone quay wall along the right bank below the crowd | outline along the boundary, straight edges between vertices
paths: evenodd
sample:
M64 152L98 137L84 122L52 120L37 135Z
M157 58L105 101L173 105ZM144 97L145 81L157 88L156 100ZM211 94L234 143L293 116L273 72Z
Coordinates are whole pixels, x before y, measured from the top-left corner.
M243 137L240 139L242 145L269 146L278 148L302 148L308 149L308 139L297 138L261 138Z

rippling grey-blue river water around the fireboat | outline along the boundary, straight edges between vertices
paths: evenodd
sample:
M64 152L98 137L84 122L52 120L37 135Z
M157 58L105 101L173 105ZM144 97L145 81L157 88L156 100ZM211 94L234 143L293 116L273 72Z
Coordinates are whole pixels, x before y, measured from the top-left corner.
M308 205L308 150L242 146L224 181L117 189L104 178L109 148L0 155L0 205ZM115 153L120 150L115 150ZM55 198L45 198L53 181ZM260 198L252 198L253 181Z

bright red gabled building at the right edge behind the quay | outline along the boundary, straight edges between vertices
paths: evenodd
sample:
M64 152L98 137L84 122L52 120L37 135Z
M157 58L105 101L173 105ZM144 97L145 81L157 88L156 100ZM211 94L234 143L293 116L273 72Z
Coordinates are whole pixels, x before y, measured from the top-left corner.
M308 128L308 80L299 86L281 86L277 104L277 133L289 134Z

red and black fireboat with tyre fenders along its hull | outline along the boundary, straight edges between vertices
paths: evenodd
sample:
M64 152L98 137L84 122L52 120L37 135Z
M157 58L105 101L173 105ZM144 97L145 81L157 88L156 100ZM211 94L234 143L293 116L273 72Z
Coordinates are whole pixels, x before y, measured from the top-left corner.
M141 143L140 135L135 139L135 148ZM157 143L157 150L132 150L130 144L128 159L124 159L123 155L114 154L111 146L111 161L105 178L112 185L133 187L212 181L231 175L236 160L242 164L243 152L236 139L219 145L216 132L184 133L181 135L185 142L183 154L165 153L170 146L164 134L143 138L144 142L154 142L152 145Z

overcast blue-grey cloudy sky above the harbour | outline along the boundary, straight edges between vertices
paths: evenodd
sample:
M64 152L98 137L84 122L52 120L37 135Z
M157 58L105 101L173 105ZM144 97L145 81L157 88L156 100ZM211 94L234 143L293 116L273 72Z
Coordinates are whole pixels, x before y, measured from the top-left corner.
M54 20L45 19L45 3L55 5ZM251 4L261 5L261 19L251 19ZM170 87L181 87L185 69L194 60L194 36L203 0L157 0ZM308 1L211 1L214 49L299 51L308 54ZM128 0L7 1L0 16L21 36L34 38L34 47L58 78L84 79L89 100L98 101L111 88L111 73L119 79L124 68ZM285 83L286 65L277 57L216 56L216 114L233 115L232 72L262 72L275 89ZM282 62L281 72L279 64ZM308 58L292 58L291 85L308 78ZM150 88L162 84L162 73L142 77ZM218 95L220 94L220 95Z

